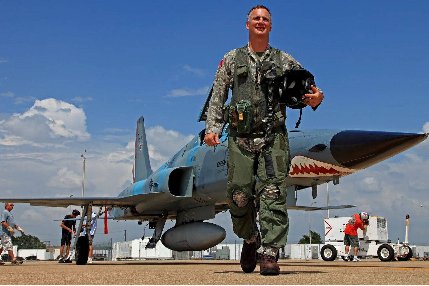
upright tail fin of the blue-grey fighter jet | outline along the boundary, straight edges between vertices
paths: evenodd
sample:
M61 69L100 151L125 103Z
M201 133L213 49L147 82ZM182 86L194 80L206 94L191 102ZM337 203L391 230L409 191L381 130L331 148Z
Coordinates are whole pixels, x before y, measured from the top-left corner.
M149 161L148 142L146 141L145 120L142 116L137 120L133 181L135 183L145 180L152 173L151 162Z

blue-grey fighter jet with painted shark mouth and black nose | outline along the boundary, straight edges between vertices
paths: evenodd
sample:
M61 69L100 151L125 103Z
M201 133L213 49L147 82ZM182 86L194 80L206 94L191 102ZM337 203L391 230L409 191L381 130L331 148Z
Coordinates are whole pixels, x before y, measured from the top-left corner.
M198 121L205 121L211 89L201 109ZM146 248L158 241L176 251L206 250L226 237L218 225L204 222L229 209L227 190L228 124L222 127L221 144L209 147L204 142L205 129L180 149L156 171L149 162L143 116L137 120L133 184L114 197L73 198L13 198L0 201L29 203L49 207L84 206L87 228L91 226L93 206L99 206L96 219L107 211L117 220L138 220L154 229ZM317 185L333 181L365 169L399 154L425 140L426 134L356 131L304 130L288 132L291 166L287 177L287 208L321 210L353 207L349 205L309 208L296 205L297 192L311 188L317 196ZM256 186L257 189L257 186ZM310 189L309 189L310 190ZM255 190L257 193L257 190ZM166 220L176 224L161 237ZM80 220L80 231L84 215ZM87 231L89 234L89 231ZM79 234L78 234L79 237ZM86 264L91 236L76 240L76 263Z

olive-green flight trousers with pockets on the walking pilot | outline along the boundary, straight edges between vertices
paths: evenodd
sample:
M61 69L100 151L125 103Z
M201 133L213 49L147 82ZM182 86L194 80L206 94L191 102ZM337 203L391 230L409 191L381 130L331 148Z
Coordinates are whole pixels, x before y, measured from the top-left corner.
M242 138L230 129L228 138L228 184L233 231L248 243L258 233L256 178L259 178L259 253L276 255L286 245L289 219L286 210L286 176L290 168L289 140L282 128L262 151L263 138ZM262 140L262 141L261 141ZM262 152L261 152L262 151Z

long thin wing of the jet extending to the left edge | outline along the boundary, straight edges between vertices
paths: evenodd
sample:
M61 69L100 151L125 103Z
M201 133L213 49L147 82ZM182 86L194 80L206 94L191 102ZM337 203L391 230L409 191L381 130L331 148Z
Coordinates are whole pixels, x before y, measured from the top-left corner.
M11 199L0 199L0 202L16 202L30 205L37 205L42 207L59 207L67 208L70 205L115 205L115 206L135 206L140 202L151 199L155 196L164 192L157 193L145 193L132 196L123 197L83 197L83 198L11 198Z

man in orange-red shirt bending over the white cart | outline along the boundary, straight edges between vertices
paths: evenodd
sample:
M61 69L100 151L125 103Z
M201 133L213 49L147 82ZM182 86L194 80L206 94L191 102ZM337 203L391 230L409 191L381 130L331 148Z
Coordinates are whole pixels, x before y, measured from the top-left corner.
M357 237L357 228L362 230L366 229L366 224L363 221L367 221L369 215L367 213L353 214L347 223L346 229L344 230L344 245L346 246L346 255L344 259L350 261L348 256L349 246L353 247L353 260L360 261L357 258L357 247L359 246L359 238Z

